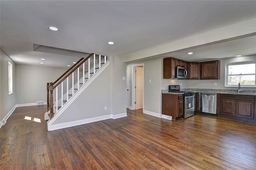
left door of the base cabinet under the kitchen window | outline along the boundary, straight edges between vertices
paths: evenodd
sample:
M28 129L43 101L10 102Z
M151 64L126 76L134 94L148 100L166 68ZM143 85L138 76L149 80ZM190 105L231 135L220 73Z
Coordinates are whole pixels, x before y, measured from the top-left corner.
M220 99L220 114L236 115L236 100Z

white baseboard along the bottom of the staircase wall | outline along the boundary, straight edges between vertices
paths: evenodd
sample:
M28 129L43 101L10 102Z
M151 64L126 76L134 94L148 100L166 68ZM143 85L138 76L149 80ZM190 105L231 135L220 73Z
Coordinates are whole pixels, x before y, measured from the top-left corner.
M56 124L56 125L48 125L48 122L47 122L47 127L48 127L48 131L52 131L52 130L58 130L58 129L62 129L62 128L84 125L84 124L87 124L87 123L104 121L106 119L111 119L111 118L112 119L118 119L118 118L126 117L126 116L127 116L127 113L120 113L118 115L105 115L105 116L82 119L82 120L72 121L72 122L67 122L67 123L60 123L60 124Z

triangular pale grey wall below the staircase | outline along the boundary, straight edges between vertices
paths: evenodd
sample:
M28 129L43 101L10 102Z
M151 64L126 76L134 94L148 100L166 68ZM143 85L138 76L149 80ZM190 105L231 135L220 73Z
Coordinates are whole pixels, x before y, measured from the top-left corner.
M111 67L108 66L52 125L109 115L112 110L110 73Z

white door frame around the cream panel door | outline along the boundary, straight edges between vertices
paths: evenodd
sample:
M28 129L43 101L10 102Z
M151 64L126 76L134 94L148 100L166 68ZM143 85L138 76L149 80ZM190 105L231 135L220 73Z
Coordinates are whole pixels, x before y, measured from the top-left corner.
M143 108L143 112L144 112L144 90L145 90L145 88L144 88L144 79L145 79L144 63L132 65L132 110L136 109L136 105L135 105L135 101L136 101L136 89L135 89L136 77L134 75L134 69L135 69L135 67L138 67L138 66L143 67L143 93L142 93L143 107L142 108Z

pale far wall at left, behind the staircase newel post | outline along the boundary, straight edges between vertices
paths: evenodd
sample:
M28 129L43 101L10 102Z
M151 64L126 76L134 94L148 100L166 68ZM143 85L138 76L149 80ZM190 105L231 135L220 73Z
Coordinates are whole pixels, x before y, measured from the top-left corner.
M16 104L46 102L46 83L55 81L66 70L60 67L16 64Z

